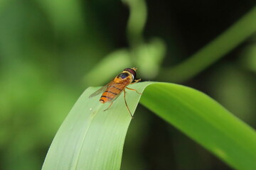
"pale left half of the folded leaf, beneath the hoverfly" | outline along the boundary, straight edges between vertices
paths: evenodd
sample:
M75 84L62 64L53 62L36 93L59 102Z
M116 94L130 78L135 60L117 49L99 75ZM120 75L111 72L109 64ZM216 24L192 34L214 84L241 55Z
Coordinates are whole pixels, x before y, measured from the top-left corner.
M143 91L146 84L129 87ZM131 116L124 104L123 94L110 103L100 103L100 95L89 98L99 88L88 88L80 96L55 135L43 170L119 169L124 138ZM134 113L141 95L127 90L127 104Z

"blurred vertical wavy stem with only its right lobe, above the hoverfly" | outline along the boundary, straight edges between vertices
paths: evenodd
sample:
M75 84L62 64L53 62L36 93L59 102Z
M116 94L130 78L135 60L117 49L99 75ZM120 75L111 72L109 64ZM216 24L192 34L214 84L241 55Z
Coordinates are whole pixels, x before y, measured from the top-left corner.
M127 40L130 60L139 68L142 77L154 79L166 55L165 42L161 38L151 38L147 42L144 40L143 31L147 17L144 0L123 0L123 2L129 7Z

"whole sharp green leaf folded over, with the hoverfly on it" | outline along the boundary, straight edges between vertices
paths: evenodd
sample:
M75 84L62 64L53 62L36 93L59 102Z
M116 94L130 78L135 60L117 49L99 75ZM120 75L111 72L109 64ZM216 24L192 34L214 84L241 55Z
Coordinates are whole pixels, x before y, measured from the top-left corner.
M141 102L161 118L235 169L256 169L256 133L200 91L177 84L143 82L130 88L142 92ZM43 170L119 169L131 117L119 96L112 107L88 88L75 103L48 151ZM141 96L127 90L134 113ZM135 119L136 121L136 115Z

